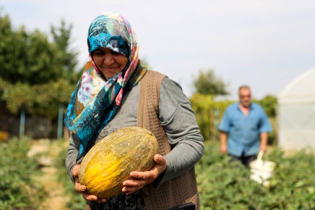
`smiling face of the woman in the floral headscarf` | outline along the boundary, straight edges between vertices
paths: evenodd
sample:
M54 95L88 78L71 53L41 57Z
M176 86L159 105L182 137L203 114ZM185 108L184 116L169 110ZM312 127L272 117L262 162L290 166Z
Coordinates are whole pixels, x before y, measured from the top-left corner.
M128 62L126 56L116 53L109 48L96 49L92 54L92 58L96 67L107 79L123 71Z

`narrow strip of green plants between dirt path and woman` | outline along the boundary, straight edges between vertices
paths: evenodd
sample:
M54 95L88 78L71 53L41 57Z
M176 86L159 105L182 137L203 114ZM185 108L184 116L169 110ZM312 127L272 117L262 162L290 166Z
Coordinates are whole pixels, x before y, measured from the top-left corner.
M84 209L86 200L78 193L74 184L69 178L67 169L65 167L67 148L60 151L59 155L55 159L55 167L58 169L56 172L57 180L64 186L64 192L70 196L70 200L66 206L72 210Z

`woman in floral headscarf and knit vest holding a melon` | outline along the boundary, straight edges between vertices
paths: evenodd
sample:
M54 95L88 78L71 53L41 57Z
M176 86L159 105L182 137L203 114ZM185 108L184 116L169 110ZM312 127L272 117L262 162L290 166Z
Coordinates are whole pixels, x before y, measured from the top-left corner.
M65 117L71 131L66 167L87 208L171 209L192 203L199 209L193 166L203 154L203 137L180 86L140 65L137 36L120 14L103 13L92 21L88 47L90 61ZM130 126L155 135L156 164L150 171L130 173L137 179L124 181L118 196L87 194L78 180L83 156L108 134Z

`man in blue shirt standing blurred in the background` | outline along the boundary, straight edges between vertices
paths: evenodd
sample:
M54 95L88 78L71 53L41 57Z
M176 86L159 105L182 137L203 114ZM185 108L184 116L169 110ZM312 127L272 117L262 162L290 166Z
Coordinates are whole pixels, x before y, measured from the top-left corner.
M231 161L239 160L246 167L259 150L266 152L268 132L272 131L265 111L250 97L250 88L241 86L239 103L227 107L219 126L221 153L228 153Z

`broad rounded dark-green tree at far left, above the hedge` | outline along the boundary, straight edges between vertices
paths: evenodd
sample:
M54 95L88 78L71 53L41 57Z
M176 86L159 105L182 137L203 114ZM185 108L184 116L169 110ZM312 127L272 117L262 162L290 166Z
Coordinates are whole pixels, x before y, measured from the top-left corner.
M60 50L40 31L13 30L8 16L0 19L0 77L10 83L56 81L63 71Z

